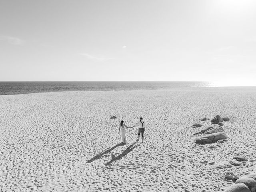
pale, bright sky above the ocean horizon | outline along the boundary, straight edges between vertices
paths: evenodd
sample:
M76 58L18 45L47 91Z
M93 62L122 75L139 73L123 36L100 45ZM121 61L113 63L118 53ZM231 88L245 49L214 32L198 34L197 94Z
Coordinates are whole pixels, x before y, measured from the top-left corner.
M255 0L1 0L0 81L256 86Z

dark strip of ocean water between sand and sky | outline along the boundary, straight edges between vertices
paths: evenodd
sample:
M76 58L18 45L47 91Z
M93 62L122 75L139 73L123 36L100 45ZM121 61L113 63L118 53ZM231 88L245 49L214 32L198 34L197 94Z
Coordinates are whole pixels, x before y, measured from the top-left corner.
M0 95L56 91L156 90L211 86L210 82L0 82Z

